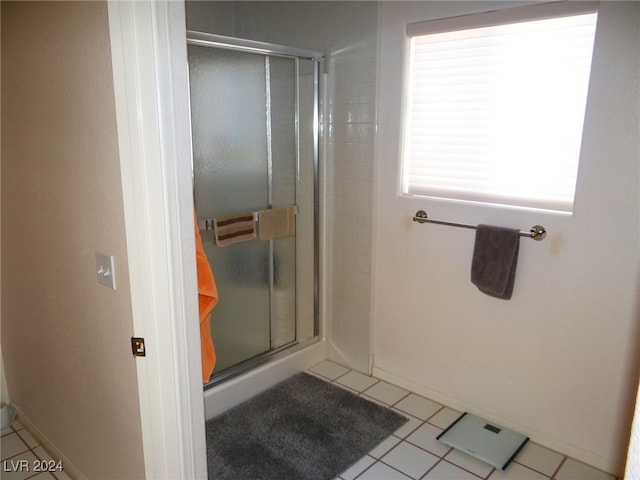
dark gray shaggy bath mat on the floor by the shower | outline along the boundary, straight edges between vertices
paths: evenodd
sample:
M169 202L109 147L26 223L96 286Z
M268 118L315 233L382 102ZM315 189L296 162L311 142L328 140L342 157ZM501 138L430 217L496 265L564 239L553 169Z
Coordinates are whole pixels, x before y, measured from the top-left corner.
M207 421L215 480L330 480L407 421L306 373Z

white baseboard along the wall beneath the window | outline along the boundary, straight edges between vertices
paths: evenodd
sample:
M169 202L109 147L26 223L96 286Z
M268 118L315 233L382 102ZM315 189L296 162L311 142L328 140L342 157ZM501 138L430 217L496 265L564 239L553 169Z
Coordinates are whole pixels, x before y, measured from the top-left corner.
M568 457L574 458L575 460L578 460L580 462L584 462L599 470L610 473L611 475L614 475L614 476L622 475L623 466L611 459L601 457L592 452L578 448L574 445L570 445L566 442L563 442L562 440L558 440L557 438L554 438L550 435L536 431L524 425L520 425L518 423L512 422L508 419L500 418L490 412L483 411L482 409L478 409L473 405L469 405L465 402L449 397L438 391L431 390L430 388L413 383L410 380L407 380L395 374L389 373L378 367L373 368L373 376L381 380L385 380L394 385L397 385L398 387L402 387L405 390L409 390L410 392L413 392L417 395L421 395L435 402L441 403L442 405L445 405L454 410L458 410L461 412L469 412L469 413L472 413L473 415L486 418L490 422L496 423L498 425L502 425L516 432L520 432L528 436L532 442L535 442L538 445L549 448L551 450L555 450L556 452L562 453L563 455L567 455Z

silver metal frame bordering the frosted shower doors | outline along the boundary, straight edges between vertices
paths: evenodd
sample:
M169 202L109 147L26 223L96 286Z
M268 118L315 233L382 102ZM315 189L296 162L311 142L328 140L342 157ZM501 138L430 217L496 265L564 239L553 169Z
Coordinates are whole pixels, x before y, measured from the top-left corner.
M320 272L320 193L319 193L319 158L320 158L320 76L324 72L324 55L321 52L307 50L302 48L291 47L287 45L278 45L273 43L259 42L255 40L242 39L237 37L229 37L225 35L217 35L205 32L197 32L187 30L187 44L202 47L220 48L225 50L235 50L248 53L256 53L262 55L280 56L296 59L312 60L314 62L314 98L313 98L313 242L314 242L314 280L313 280L313 334L303 342L297 338L291 342L282 345L276 349L258 354L252 358L244 360L237 365L226 368L225 370L214 375L209 382L204 385L207 390L216 385L220 385L238 375L253 370L256 367L265 364L271 360L282 358L285 355L295 353L302 350L320 340L319 326L319 272ZM298 123L298 120L296 120ZM271 203L271 199L269 199Z

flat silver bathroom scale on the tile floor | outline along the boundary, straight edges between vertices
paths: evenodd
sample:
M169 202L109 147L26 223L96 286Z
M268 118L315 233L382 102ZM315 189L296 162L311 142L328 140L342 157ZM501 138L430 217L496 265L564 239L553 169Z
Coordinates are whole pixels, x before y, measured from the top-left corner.
M436 439L502 471L529 441L529 437L467 412Z

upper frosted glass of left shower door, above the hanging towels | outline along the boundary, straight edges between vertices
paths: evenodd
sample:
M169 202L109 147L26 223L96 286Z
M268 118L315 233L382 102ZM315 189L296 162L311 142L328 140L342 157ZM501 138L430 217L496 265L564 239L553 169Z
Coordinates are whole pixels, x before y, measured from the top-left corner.
M264 208L269 201L264 57L189 45L189 74L200 218Z

